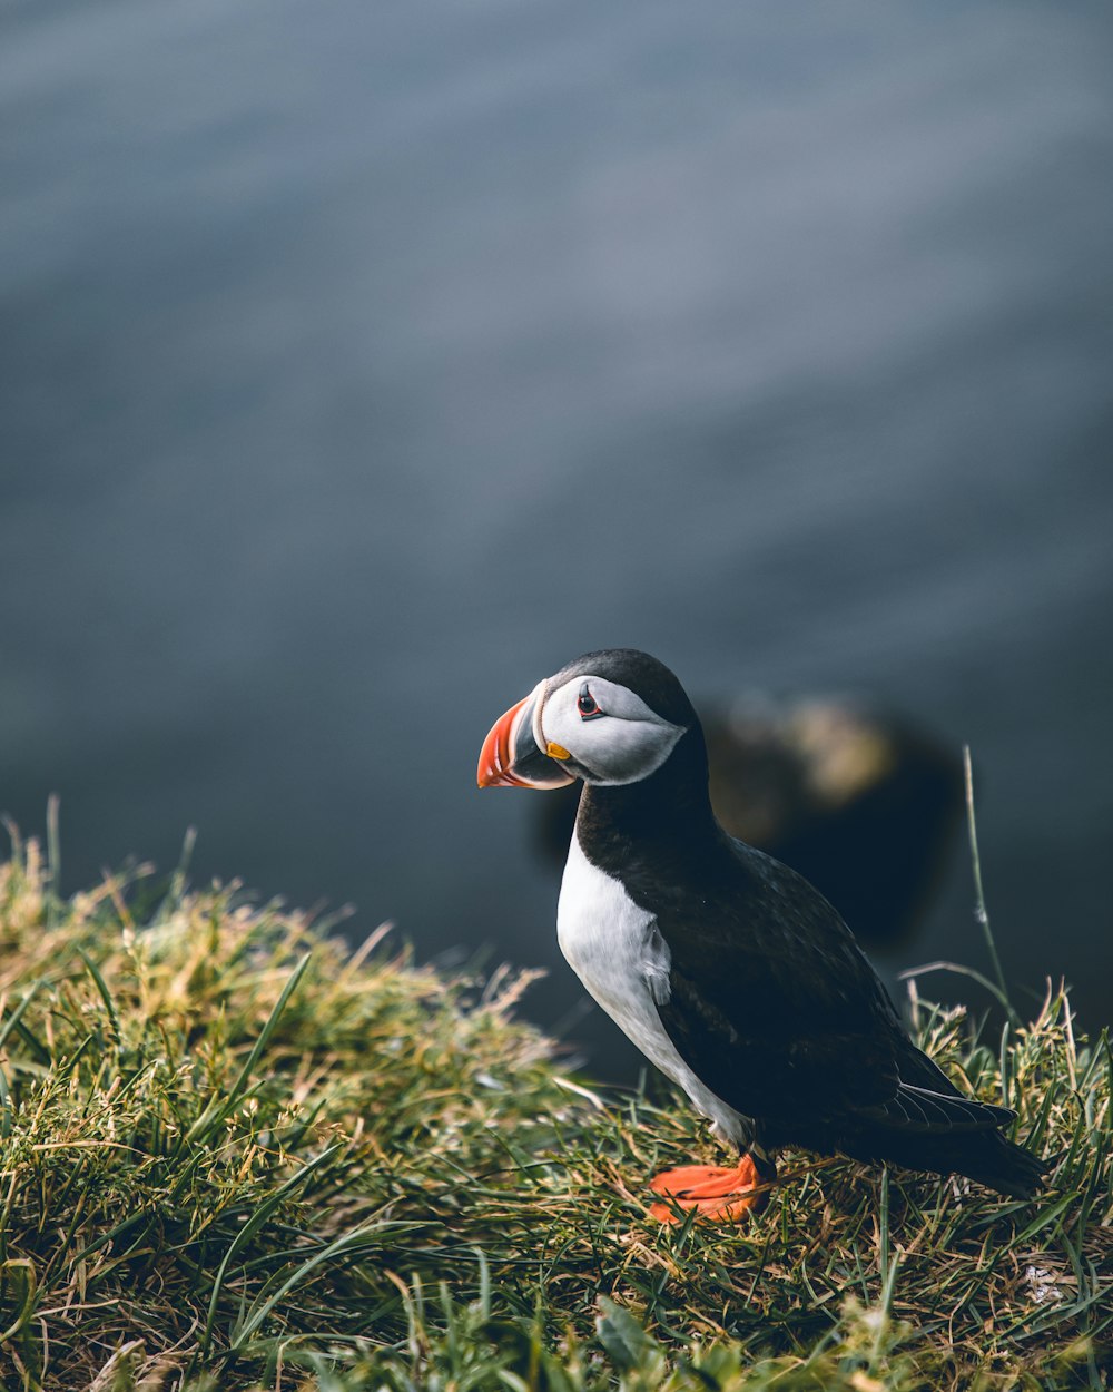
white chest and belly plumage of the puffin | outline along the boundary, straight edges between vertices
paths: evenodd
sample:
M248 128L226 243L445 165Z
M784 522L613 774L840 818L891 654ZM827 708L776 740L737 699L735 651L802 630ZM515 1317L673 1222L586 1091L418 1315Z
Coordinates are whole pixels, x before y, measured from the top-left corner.
M568 965L619 1029L694 1105L723 1139L744 1144L748 1126L691 1072L661 1023L668 1001L669 951L652 915L620 881L593 866L572 837L556 909L556 941Z

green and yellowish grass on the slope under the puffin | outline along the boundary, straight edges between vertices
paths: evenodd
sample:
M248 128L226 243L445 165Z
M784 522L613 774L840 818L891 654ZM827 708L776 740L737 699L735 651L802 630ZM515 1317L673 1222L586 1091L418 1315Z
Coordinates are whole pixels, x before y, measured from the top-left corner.
M1041 1201L787 1155L760 1219L662 1229L648 1176L721 1153L569 1077L527 977L153 884L0 866L4 1392L1109 1385L1113 1055L1062 991L914 1022L1059 1157Z

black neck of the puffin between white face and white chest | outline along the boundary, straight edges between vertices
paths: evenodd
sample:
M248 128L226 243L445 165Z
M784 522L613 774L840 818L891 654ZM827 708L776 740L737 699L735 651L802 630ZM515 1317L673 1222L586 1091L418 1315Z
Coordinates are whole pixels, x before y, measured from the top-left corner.
M614 863L716 835L707 791L707 746L698 725L686 731L648 778L615 785L586 784L576 834L588 857Z

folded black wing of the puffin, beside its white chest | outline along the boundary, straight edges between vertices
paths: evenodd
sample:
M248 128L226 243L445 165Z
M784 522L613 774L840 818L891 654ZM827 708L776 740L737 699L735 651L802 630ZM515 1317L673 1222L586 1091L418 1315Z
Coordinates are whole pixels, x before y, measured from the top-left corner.
M654 896L671 952L658 1012L718 1097L803 1144L847 1123L940 1134L1010 1118L961 1097L911 1044L850 930L807 880L729 839L707 871L697 931L690 902Z

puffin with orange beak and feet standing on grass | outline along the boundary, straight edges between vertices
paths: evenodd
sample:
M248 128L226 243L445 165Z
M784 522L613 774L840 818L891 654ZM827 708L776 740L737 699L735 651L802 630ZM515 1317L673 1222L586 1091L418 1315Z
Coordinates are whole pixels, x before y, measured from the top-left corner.
M803 876L715 820L678 678L637 649L586 653L491 727L480 788L583 784L556 938L588 994L711 1122L733 1165L650 1183L662 1222L760 1210L785 1146L1031 1199L1048 1165L908 1037L850 928Z

